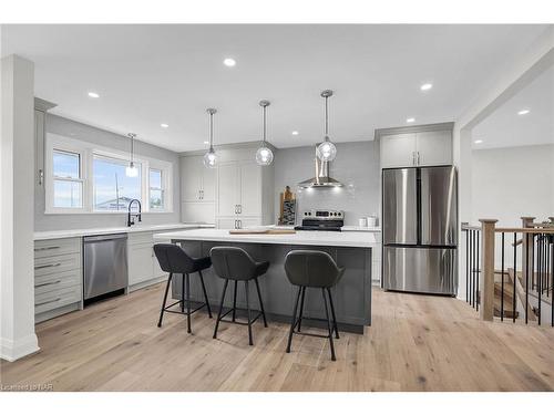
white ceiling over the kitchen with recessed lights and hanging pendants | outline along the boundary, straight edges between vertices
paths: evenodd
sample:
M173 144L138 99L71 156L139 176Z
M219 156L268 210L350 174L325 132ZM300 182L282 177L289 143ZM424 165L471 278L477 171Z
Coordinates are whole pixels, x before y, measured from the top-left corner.
M546 25L3 25L2 55L35 63L53 113L174 151L260 137L260 98L277 147L321 136L332 89L336 142L375 128L453 121ZM236 59L226 68L226 56ZM431 91L421 92L431 82ZM95 91L101 96L90 98ZM170 124L163 129L161 123ZM299 135L293 136L293 131Z

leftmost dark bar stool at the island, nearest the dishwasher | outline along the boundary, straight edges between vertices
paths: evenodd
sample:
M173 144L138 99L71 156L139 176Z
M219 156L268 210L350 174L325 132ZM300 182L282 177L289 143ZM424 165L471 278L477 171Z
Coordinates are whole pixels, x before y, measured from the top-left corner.
M212 267L212 260L209 257L204 258L192 258L189 257L183 248L173 243L156 243L154 245L154 253L156 255L160 267L164 272L170 272L170 278L167 279L167 286L165 287L164 302L162 304L162 310L160 312L160 321L157 326L162 326L162 320L164 318L164 312L185 314L186 315L186 331L188 333L191 330L191 315L206 307L209 318L212 319L212 309L209 308L209 301L207 298L206 286L204 284L204 277L202 276L202 270ZM199 307L191 311L191 273L198 272L202 283L202 290L204 291L204 300L206 302L202 303ZM167 302L167 292L170 291L170 286L174 273L183 274L183 283L181 286L181 300L174 302L173 304L165 305ZM185 295L185 284L186 284L186 295ZM186 311L185 311L186 302ZM181 304L181 311L170 310L172 307Z

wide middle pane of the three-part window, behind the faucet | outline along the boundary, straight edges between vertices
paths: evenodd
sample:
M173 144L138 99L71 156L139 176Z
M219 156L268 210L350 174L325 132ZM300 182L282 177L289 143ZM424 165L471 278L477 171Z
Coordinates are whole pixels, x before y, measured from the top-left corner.
M127 177L125 167L129 162L94 155L92 163L93 209L98 211L127 210L133 199L142 200L141 164L136 177Z

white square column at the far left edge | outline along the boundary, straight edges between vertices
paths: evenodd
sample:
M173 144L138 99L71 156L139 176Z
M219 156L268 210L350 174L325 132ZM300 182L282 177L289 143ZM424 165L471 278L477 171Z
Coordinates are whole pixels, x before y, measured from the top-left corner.
M13 361L38 347L34 333L33 168L34 65L1 61L0 356Z

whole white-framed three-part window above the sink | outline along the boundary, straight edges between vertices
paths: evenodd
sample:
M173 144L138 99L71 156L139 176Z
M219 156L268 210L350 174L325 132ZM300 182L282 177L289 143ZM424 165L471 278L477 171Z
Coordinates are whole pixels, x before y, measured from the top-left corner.
M134 162L138 175L127 177L127 152L48 133L45 214L126 214L132 199L143 212L172 212L172 163L142 156Z

